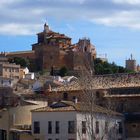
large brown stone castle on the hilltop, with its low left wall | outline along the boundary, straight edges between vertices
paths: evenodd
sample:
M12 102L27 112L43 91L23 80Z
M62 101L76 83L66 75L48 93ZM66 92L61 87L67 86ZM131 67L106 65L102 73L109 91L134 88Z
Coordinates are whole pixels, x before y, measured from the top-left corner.
M44 30L37 34L37 43L32 45L31 51L8 53L7 56L32 59L36 70L51 71L66 67L77 71L87 64L86 61L92 64L96 50L90 39L82 38L78 43L72 44L70 37L50 30L45 23Z

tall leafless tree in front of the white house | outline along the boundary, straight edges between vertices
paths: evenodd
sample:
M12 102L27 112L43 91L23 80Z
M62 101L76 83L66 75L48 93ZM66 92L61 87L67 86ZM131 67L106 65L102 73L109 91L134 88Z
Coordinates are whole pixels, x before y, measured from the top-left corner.
M86 61L85 61L86 62ZM96 115L95 108L98 105L98 99L96 95L96 89L93 86L95 81L93 81L93 73L91 71L94 71L92 67L90 68L90 65L88 62L85 64L85 67L81 69L81 72L79 73L79 85L82 89L83 100L82 102L85 104L85 110L87 111L84 113L85 120L86 120L86 127L87 127L87 133L89 136L89 140L117 140L118 139L118 127L116 126L116 122L114 120L114 123L112 125L112 118L114 117L112 109L116 108L116 104L112 105L112 102L108 100L108 103L106 104L106 112L102 111L101 113L105 113L105 121L101 121L99 115ZM104 63L104 65L108 66L108 63ZM98 65L98 67L102 67L102 65ZM109 69L107 70L109 71ZM98 106L99 107L99 106ZM101 109L101 107L99 107ZM98 121L99 120L99 121ZM97 135L98 129L95 128L95 122L96 125L100 125L100 129L102 129L102 133L100 134L100 137ZM108 129L106 131L106 129ZM82 140L82 135L79 132L79 137Z

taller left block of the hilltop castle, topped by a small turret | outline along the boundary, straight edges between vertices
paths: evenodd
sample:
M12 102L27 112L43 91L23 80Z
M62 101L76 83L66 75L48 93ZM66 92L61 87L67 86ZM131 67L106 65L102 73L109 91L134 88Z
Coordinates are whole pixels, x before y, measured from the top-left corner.
M37 70L58 70L63 66L70 68L66 62L66 50L71 46L70 37L50 30L49 25L45 23L43 32L38 33L37 38L37 43L32 45Z

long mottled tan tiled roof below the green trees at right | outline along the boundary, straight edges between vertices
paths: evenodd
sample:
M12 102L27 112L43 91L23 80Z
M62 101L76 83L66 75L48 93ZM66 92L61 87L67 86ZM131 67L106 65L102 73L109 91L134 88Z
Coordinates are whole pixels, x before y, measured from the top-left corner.
M84 77L84 76L83 76ZM85 79L79 78L69 84L52 89L52 91L77 91L83 89L110 89L110 88L138 88L140 87L140 73L94 75Z

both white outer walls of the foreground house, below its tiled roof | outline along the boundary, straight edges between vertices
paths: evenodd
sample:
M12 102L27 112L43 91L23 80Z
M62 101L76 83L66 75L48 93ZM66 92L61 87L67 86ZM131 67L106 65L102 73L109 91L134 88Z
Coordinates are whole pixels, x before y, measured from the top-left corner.
M88 115L89 116L89 115ZM89 117L88 117L89 118ZM99 121L100 126L100 133L98 135L98 138L102 137L104 132L104 124L105 120L107 120L107 116L104 114L95 114L94 120L93 120L93 126L95 126L95 122ZM122 121L123 118L121 117L111 117L109 118L109 127L111 130L114 125L116 124L116 121ZM34 135L34 138L41 138L44 136L44 139L41 140L48 140L48 138L51 139L60 139L60 140L66 140L66 139L76 139L81 140L81 135L79 132L81 131L81 123L82 121L86 121L85 114L82 113L76 113L76 112L33 112L32 113L32 128L34 121L40 122L40 134L34 134L32 130L32 134ZM52 134L48 134L48 121L52 121ZM60 122L60 133L55 133L55 121ZM69 134L68 133L68 121L75 121L77 125L77 133L75 134ZM114 132L114 131L113 131ZM116 132L116 131L115 131ZM79 136L80 135L80 136ZM115 135L115 134L113 134ZM122 138L121 135L116 135L117 138ZM91 140L88 133L83 139ZM105 139L106 137L104 137ZM107 138L106 138L107 139Z

